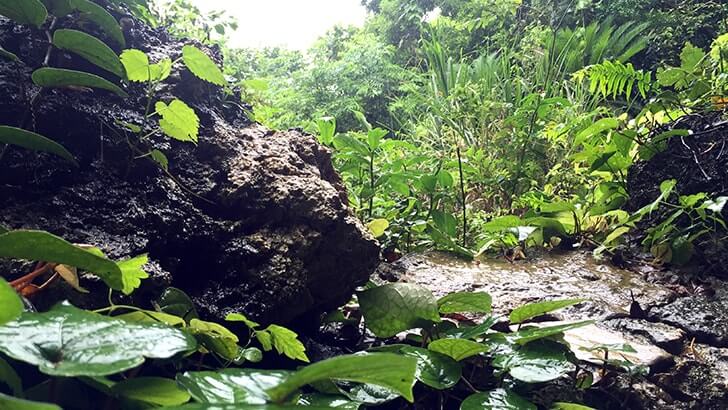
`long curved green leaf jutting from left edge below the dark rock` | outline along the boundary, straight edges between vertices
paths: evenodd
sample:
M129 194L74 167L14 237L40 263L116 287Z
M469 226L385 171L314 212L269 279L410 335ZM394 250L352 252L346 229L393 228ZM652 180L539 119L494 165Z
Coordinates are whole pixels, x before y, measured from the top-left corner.
M0 235L0 257L74 266L97 274L112 289L124 289L123 273L116 263L48 232L17 230Z

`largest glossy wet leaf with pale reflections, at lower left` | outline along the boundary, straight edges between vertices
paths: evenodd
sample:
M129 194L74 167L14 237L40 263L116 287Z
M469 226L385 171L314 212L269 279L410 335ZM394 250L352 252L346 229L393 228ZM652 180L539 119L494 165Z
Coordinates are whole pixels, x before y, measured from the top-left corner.
M111 375L195 347L192 336L167 325L129 323L66 303L0 327L0 352L51 376Z

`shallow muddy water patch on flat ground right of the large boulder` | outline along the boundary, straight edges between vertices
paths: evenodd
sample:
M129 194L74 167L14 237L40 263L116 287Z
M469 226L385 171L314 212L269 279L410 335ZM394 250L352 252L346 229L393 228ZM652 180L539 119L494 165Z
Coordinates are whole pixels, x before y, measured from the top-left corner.
M629 313L630 290L644 307L666 303L672 292L639 274L599 263L588 252L546 254L533 260L468 262L447 253L411 255L398 261L402 279L436 295L469 290L493 297L496 313L527 302L583 298L589 302L565 310L562 319L604 318Z

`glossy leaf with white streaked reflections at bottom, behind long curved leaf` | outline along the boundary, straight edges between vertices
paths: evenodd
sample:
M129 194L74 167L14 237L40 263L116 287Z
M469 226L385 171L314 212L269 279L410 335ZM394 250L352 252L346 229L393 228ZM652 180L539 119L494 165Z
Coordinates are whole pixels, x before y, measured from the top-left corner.
M266 390L281 384L290 373L258 369L185 372L177 375L177 383L202 403L265 404Z

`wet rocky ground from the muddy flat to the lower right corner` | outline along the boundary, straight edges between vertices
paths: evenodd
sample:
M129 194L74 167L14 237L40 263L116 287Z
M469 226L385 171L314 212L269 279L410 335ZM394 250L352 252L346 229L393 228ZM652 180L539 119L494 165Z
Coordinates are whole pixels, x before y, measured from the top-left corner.
M599 381L599 389L579 397L583 403L598 409L728 408L728 283L711 280L711 292L687 294L674 291L669 277L655 282L658 273L648 271L641 274L601 264L587 252L546 254L514 263L465 262L433 252L383 264L377 273L418 283L438 296L486 291L493 297L494 313L501 315L537 300L588 299L532 325L596 319L595 325L565 333L565 341L581 360L598 366L599 353L581 348L628 343L637 353L617 355L649 366L650 372L648 376L609 373ZM630 316L630 290L644 317ZM574 394L569 389L541 393L564 400Z

